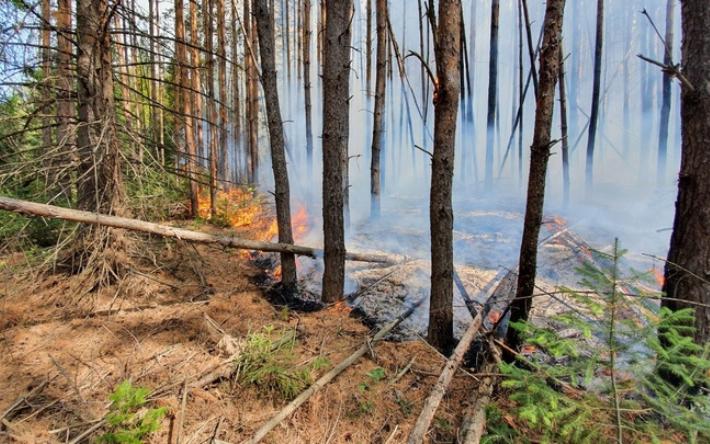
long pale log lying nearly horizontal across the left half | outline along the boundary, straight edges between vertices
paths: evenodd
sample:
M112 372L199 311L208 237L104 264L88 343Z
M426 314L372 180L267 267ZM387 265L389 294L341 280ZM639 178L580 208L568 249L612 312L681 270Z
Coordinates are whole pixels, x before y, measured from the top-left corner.
M109 216L106 214L92 213L89 211L73 210L71 208L57 207L55 205L40 204L26 200L13 199L0 196L0 210L12 211L32 217L50 217L71 222L91 225L103 225L124 230L139 231L155 234L157 236L181 239L203 244L219 244L239 250L257 250L272 253L292 253L301 256L322 257L323 250L278 242L262 242L232 236L217 236L199 231L186 230L168 225L146 222L127 217ZM345 259L356 262L374 262L392 264L397 262L392 256L382 254L365 254L349 252Z

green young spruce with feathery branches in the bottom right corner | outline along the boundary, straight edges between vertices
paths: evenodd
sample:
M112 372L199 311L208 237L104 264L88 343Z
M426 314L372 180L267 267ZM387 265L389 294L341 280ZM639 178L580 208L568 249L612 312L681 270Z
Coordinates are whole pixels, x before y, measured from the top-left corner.
M596 252L597 265L580 267L586 290L562 289L573 303L550 320L556 328L511 324L536 350L522 365L500 365L516 422L550 443L608 442L617 433L629 442L710 442L710 345L693 342L692 309L659 310L659 295L635 284L640 274L621 273L622 254ZM561 329L578 334L561 337ZM488 424L485 442L532 438L496 408Z

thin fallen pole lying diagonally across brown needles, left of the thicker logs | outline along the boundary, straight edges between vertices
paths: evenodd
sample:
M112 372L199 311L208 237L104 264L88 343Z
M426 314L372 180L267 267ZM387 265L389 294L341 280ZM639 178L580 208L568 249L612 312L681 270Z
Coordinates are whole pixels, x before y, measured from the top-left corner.
M368 339L365 343L357 349L353 354L342 360L338 365L333 367L332 370L321 376L316 382L313 383L306 390L301 392L300 395L291 401L286 407L281 409L276 415L274 415L269 421L259 428L254 435L252 435L249 440L245 441L244 444L256 444L260 442L264 437L273 430L274 427L279 425L281 421L286 419L291 413L296 411L303 403L308 401L308 399L313 396L320 389L325 387L330 381L335 379L340 373L342 373L350 365L354 364L358 359L363 357L367 352L372 350L372 346L375 342L382 340L390 331L394 330L402 321L407 319L414 311L421 305L422 300L414 304L412 307L407 309L403 314L398 316L396 319L391 321L389 324L385 325L378 331L372 339Z

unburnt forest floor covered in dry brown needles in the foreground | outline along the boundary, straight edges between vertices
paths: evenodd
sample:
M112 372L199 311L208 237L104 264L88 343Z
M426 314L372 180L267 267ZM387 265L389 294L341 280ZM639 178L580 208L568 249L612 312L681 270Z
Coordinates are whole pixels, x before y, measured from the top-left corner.
M200 229L251 235L249 227ZM271 270L260 269L244 252L145 237L141 242L145 257L133 272L83 297L79 277L28 275L14 266L19 256L0 258L0 413L6 412L0 441L71 442L106 415L110 394L130 380L159 393L151 405L168 410L149 442L177 442L180 436L182 443L241 442L288 401L230 377L190 387L182 407L185 382L229 355L220 345L225 335L246 340L254 332L293 331L296 363L327 358L329 366L314 371L317 378L370 333L344 305L309 313L273 305L264 285ZM265 442L403 442L443 364L423 341L383 342ZM454 441L476 384L471 375L457 373L433 423L433 442Z

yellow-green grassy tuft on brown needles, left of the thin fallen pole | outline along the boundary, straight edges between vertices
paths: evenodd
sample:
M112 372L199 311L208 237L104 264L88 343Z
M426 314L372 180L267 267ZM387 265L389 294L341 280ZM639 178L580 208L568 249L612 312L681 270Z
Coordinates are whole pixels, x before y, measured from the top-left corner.
M316 371L330 366L330 362L320 356L308 364L297 364L293 353L295 344L291 332L277 335L271 326L249 334L236 361L237 380L267 394L277 394L287 400L295 398L313 383Z

